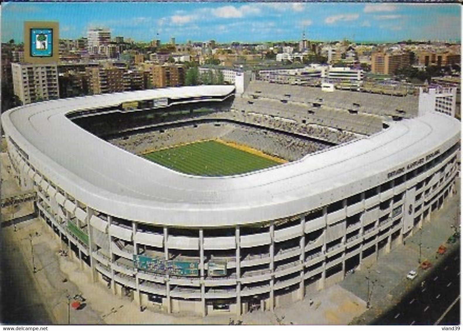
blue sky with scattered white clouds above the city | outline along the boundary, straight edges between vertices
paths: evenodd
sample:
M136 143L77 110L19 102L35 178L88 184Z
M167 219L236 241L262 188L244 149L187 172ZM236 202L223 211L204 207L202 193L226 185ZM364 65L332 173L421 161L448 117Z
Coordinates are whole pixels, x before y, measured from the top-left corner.
M460 41L456 3L326 2L3 2L1 40L23 41L24 21L58 21L60 38L101 27L138 42L256 43L307 39L355 42Z

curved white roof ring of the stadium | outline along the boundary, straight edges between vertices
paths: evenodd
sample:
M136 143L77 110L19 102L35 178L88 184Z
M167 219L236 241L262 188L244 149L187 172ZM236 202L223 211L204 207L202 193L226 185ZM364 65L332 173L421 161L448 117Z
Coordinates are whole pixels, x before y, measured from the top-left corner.
M278 219L318 208L387 181L387 173L459 140L460 122L432 113L382 132L243 175L205 178L175 172L114 147L71 122L72 110L132 100L223 96L233 86L181 87L30 104L2 114L6 134L36 169L89 207L179 227Z

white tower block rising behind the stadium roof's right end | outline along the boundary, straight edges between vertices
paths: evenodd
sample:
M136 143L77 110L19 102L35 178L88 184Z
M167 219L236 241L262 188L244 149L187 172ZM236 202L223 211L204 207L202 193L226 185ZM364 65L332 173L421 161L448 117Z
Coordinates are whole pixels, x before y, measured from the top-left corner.
M419 88L418 114L424 115L427 112L438 111L455 117L457 107L457 88L433 86L423 89Z

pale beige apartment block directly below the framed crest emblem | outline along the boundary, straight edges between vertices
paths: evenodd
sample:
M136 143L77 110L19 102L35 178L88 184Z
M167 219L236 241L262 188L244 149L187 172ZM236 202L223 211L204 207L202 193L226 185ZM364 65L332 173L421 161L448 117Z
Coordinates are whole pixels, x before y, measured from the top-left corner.
M59 98L56 64L12 63L13 92L23 104Z

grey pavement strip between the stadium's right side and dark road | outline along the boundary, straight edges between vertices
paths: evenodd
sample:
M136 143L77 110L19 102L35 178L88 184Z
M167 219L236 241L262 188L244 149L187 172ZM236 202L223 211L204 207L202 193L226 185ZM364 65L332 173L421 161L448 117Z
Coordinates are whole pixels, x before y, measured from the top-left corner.
M365 325L388 311L414 286L425 278L428 270L419 268L419 260L428 260L432 266L443 259L436 251L440 245L447 247L448 252L460 249L460 243L447 244L446 241L454 233L453 226L460 210L460 179L457 178L457 194L448 198L440 210L432 213L431 221L424 221L422 230L405 240L405 245L395 247L389 254L378 261L347 276L340 285L353 294L367 300L368 280L370 279L371 308L353 319L352 325ZM459 214L458 214L459 217ZM460 221L457 221L460 224ZM458 239L459 240L459 239ZM421 243L421 256L420 256ZM433 268L433 267L432 267ZM406 278L408 271L415 270L418 277L413 281ZM373 285L373 282L375 284Z

